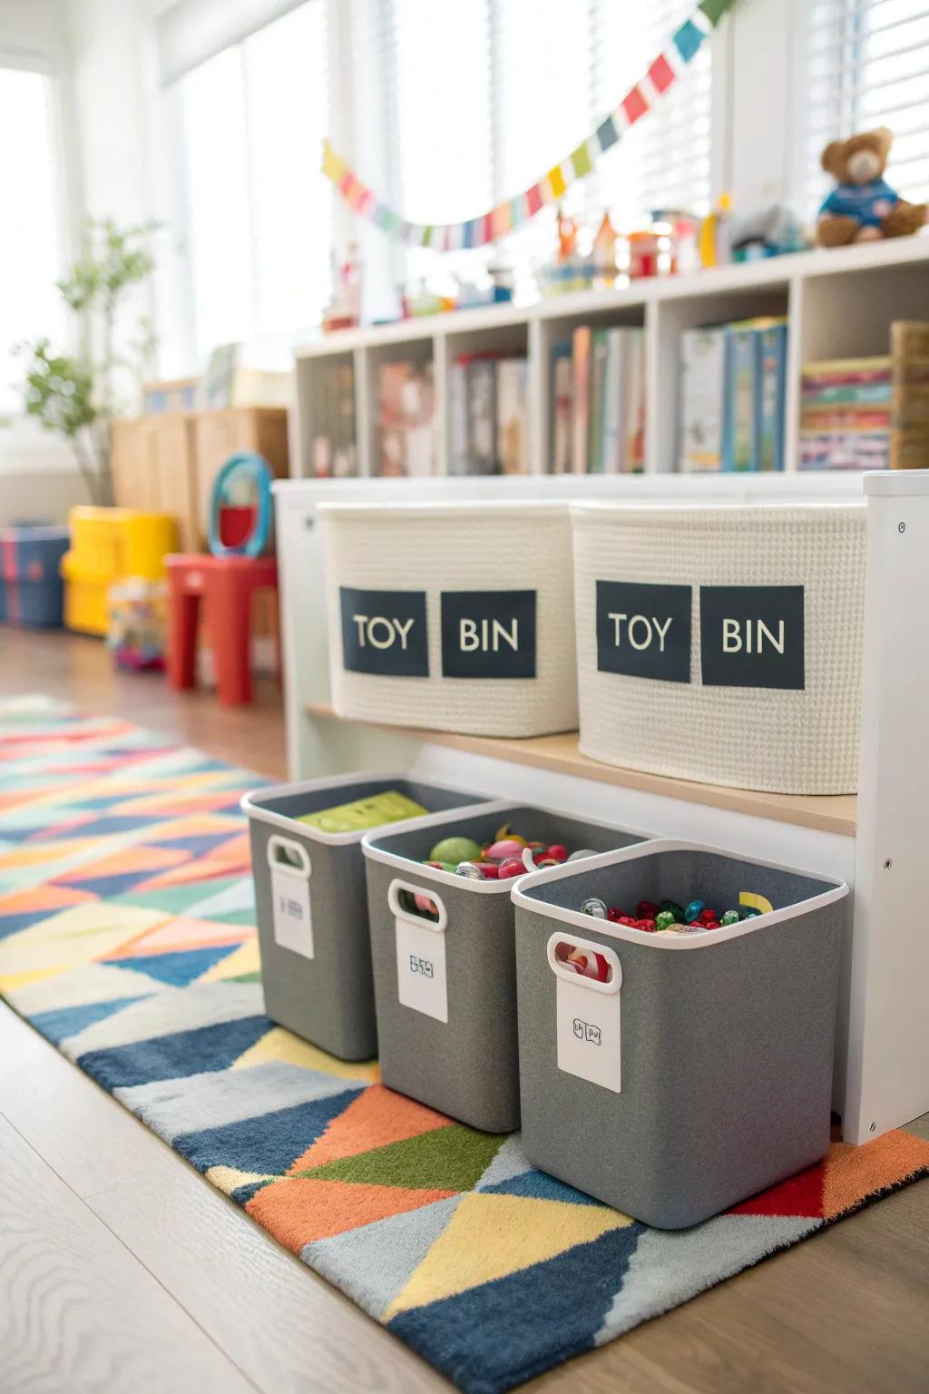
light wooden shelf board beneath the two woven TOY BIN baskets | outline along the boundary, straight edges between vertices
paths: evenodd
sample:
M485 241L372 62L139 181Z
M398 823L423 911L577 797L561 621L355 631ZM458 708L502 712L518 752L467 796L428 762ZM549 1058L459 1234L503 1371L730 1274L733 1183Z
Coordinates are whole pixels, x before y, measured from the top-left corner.
M347 719L337 717L326 703L308 703L305 710L313 718ZM355 722L355 725L377 726L382 730L396 730L414 740L448 746L453 750L465 750L492 760L508 760L513 764L533 765L536 769L550 769L553 774L593 779L598 783L617 785L623 789L638 789L663 799L702 803L754 818L791 822L801 828L834 832L844 838L854 838L858 828L858 799L854 793L758 793L752 789L733 789L724 785L702 785L688 779L671 779L666 775L649 775L639 769L620 769L616 765L603 765L591 760L589 756L582 756L578 750L575 730L559 736L531 736L514 740L499 736L462 736L450 730L422 730L414 726L389 726L383 722L365 721Z

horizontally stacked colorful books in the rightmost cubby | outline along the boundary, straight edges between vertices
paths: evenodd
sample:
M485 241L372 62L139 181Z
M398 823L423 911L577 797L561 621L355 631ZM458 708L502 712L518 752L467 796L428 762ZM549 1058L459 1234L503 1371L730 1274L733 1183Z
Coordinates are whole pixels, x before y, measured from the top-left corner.
M801 470L886 470L890 357L808 362L801 376Z

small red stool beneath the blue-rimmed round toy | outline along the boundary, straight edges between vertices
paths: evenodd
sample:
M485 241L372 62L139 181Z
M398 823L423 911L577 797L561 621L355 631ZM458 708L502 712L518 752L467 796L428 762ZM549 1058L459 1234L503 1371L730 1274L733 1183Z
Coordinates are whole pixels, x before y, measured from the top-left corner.
M241 707L252 700L252 594L277 591L273 556L177 553L164 558L169 587L167 677L171 687L196 680L196 620L206 606L206 637L213 650L219 700ZM280 644L280 641L279 641ZM280 676L280 647L279 647Z

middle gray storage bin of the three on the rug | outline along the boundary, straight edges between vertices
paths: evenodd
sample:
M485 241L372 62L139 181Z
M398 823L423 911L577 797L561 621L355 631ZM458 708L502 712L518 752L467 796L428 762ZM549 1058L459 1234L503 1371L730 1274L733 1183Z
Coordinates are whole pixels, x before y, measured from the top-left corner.
M485 1132L520 1126L514 882L472 881L421 861L443 836L483 845L504 822L568 852L642 841L642 834L514 803L416 818L364 841L382 1079ZM429 895L439 921L407 907L404 891Z

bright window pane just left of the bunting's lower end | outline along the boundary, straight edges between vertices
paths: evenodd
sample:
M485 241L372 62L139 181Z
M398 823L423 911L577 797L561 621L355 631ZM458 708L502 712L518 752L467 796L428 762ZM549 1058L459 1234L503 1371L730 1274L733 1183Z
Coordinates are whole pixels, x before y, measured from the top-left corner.
M178 79L194 350L290 346L330 294L326 0L306 0Z

